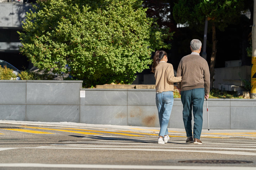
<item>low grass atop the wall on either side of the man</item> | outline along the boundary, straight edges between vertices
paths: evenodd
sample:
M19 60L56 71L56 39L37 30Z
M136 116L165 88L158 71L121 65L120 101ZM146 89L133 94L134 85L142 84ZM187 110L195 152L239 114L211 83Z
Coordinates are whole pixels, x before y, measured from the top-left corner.
M174 98L180 98L179 92L173 92ZM212 89L209 93L209 98L243 98L238 96L236 91L221 91L218 89Z

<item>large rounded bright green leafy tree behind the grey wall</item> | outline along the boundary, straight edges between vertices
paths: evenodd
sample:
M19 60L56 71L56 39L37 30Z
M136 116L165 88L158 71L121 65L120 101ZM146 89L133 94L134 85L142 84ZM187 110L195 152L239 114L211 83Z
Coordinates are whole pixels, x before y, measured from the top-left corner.
M40 69L70 73L86 87L131 83L172 34L146 17L141 0L38 1L19 32L21 53ZM67 67L68 66L68 67Z

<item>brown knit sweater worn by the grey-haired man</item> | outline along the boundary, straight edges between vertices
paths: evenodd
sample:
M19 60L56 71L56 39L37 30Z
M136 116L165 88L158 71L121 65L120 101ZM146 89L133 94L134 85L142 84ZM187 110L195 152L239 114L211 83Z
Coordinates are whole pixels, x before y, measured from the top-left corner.
M200 55L184 56L177 69L177 76L183 76L178 83L181 91L205 88L205 94L210 91L210 72L207 61Z

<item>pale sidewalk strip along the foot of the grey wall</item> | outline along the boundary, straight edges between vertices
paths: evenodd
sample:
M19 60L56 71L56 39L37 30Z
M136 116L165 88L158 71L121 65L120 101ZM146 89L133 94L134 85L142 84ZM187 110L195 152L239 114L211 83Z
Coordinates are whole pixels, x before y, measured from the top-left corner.
M160 127L138 127L138 126L124 126L124 125L110 125L110 124L86 124L74 122L29 122L29 121L5 121L0 120L1 124L14 125L33 125L33 126L50 126L50 127L74 127L74 128L89 128L89 129L111 129L111 130L126 130L135 132L147 132L158 134ZM186 137L185 129L168 128L170 136ZM241 130L241 129L203 129L201 137L212 138L250 138L256 139L256 130Z

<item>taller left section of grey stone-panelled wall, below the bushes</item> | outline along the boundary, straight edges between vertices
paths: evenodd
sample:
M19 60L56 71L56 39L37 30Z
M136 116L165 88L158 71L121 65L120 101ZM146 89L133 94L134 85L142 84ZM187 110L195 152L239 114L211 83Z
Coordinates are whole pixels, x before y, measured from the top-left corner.
M0 80L0 120L79 122L82 81Z

